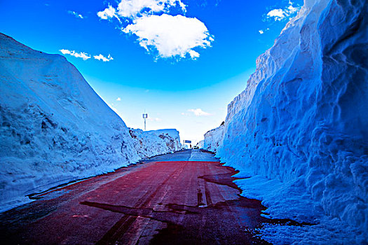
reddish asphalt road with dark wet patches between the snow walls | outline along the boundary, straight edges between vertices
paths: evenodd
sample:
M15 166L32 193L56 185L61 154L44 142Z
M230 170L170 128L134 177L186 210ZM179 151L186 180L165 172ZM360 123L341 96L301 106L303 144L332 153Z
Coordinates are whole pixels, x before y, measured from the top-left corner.
M199 150L151 158L0 214L1 244L266 244L233 174Z

